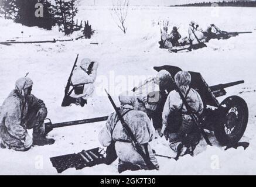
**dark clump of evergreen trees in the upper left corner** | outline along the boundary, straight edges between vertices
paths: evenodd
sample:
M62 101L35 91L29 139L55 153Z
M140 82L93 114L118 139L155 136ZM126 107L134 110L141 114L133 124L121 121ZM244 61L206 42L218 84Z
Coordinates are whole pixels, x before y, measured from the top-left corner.
M74 17L77 13L77 0L1 0L0 13L5 19L13 19L26 26L38 26L52 29L59 25L66 35L74 32ZM38 3L43 6L36 6ZM41 8L42 16L36 16L37 9ZM40 10L39 10L40 11Z

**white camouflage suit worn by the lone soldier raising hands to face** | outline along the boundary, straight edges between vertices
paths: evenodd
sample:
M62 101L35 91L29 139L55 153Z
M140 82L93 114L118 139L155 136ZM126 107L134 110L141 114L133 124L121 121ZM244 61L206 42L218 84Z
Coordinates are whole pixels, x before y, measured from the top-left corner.
M91 73L88 75L86 71L90 64L91 60L88 58L84 58L83 60L81 60L80 65L78 65L74 69L73 75L71 77L71 82L73 83L73 85L84 84L84 89L83 93L79 95L71 95L73 98L87 99L94 92L94 81L97 77L98 63L94 62L93 68L91 69Z

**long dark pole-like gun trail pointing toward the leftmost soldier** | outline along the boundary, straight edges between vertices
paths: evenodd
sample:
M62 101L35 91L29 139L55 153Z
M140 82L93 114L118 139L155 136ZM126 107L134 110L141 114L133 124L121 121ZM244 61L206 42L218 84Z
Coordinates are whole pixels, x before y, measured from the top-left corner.
M52 124L51 127L54 129L54 128L59 128L59 127L73 126L73 125L77 125L77 124L103 122L107 119L108 119L108 116L95 117L95 118L91 118L91 119L77 120L77 121L72 121L72 122L55 123L55 124Z

